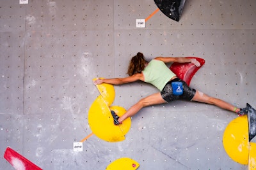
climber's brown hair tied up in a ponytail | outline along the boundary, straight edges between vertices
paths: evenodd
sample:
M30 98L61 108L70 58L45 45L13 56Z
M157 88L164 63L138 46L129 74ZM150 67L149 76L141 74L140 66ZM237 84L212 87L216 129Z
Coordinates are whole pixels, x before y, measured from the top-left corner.
M132 76L135 73L141 73L141 71L143 71L145 68L145 62L147 61L145 60L143 53L138 52L137 55L132 57L127 74Z

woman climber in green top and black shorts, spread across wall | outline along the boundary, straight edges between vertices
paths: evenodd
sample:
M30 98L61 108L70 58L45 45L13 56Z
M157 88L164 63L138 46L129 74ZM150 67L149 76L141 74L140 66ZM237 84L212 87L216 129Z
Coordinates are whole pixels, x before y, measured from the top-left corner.
M168 62L191 62L195 64L196 67L200 66L200 62L198 62L198 60L185 57L156 57L148 62L145 60L143 53L138 52L137 55L132 57L129 64L127 72L129 76L125 78L97 79L93 81L95 85L99 85L101 83L121 85L141 80L154 85L160 90L160 92L157 92L156 94L140 99L138 103L129 108L129 110L127 110L127 112L121 117L118 117L114 111L111 111L115 125L122 124L122 121L124 121L125 118L132 117L143 107L154 104L170 103L177 99L214 104L225 110L234 111L239 116L244 115L244 113L247 112L246 108L236 108L232 104L222 101L221 99L207 96L198 90L192 89L185 81L180 80L180 78L178 78L176 74L166 66L165 63Z

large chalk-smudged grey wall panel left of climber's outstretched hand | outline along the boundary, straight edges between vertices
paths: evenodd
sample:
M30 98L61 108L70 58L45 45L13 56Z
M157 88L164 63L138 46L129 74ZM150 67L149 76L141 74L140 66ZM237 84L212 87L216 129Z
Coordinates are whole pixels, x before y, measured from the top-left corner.
M84 112L92 78L113 73L109 31L33 32L27 41L24 113Z

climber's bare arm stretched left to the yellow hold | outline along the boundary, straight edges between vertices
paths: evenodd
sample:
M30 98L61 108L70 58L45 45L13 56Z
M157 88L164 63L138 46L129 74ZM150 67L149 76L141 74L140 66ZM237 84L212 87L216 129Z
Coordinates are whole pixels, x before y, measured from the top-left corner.
M101 83L108 83L112 85L122 85L124 83L131 83L134 81L144 81L144 76L142 73L136 73L132 76L125 77L125 78L104 78L104 79L97 79L93 81L93 84L99 85Z

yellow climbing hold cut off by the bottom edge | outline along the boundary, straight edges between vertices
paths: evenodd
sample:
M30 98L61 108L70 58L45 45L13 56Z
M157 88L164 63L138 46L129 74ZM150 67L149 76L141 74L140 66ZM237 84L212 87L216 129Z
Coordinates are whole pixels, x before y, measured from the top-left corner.
M106 170L134 170L140 166L138 162L130 158L120 158L109 164Z

